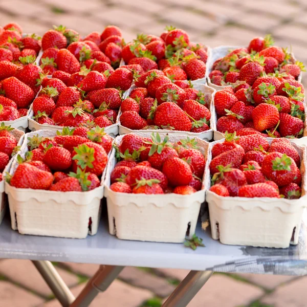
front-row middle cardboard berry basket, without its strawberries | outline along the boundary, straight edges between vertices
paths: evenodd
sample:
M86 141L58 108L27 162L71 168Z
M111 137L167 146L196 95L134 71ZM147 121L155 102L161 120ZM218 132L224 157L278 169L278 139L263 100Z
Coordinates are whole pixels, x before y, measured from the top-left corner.
M166 134L159 132L161 137ZM150 137L151 133L136 135ZM120 144L123 136L115 139ZM180 135L169 135L170 142L183 139ZM209 143L196 138L198 146L207 159ZM205 201L205 185L190 195L179 194L129 194L111 190L110 174L116 164L115 148L112 149L106 170L104 195L106 197L109 233L120 239L151 242L184 242L186 234L195 233L201 204ZM207 162L206 162L207 163ZM206 172L204 177L206 176Z

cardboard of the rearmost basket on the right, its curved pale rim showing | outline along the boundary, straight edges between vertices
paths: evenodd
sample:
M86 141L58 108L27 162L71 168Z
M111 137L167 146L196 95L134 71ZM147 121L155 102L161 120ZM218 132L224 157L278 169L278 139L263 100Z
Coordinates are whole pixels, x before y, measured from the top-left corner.
M212 71L213 63L217 59L226 56L230 52L230 50L234 50L234 49L237 49L237 48L244 48L244 47L247 47L247 46L220 46L220 47L215 47L215 48L211 49L210 57L208 56L208 60L207 60L207 64L206 64L207 65L207 70L206 70L207 84L210 87L213 87L213 89L218 91L218 90L224 89L224 87L226 86L226 85L215 85L211 82L211 80L209 78L209 74ZM293 63L295 63L295 61L296 61L293 53L291 53L291 61ZM297 81L301 82L301 79L302 79L302 73L299 74Z

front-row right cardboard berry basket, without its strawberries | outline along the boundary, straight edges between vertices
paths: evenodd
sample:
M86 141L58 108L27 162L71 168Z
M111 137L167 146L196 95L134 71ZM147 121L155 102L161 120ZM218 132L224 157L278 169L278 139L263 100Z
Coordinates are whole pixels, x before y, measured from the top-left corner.
M269 138L270 144L272 140ZM288 248L290 244L298 244L302 215L307 207L306 148L291 140L301 158L300 199L223 197L209 191L211 149L217 142L210 143L205 179L212 238L220 239L223 244L254 247Z

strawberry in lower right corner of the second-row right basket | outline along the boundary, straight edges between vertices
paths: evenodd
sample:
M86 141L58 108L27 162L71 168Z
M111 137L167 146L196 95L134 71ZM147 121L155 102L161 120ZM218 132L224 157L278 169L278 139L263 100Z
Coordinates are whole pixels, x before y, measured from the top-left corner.
M286 113L280 113L279 118L279 133L282 138L298 137L303 134L304 122L301 119Z

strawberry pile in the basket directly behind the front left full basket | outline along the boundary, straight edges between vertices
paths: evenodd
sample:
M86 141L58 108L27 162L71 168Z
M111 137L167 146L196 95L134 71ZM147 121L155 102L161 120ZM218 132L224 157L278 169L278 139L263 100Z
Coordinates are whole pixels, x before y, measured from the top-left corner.
M34 119L39 124L69 127L110 126L133 79L129 69L114 70L108 63L95 61L72 75L56 71L48 78L41 74L38 83L43 88L33 101Z

